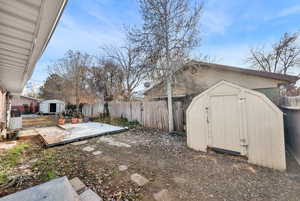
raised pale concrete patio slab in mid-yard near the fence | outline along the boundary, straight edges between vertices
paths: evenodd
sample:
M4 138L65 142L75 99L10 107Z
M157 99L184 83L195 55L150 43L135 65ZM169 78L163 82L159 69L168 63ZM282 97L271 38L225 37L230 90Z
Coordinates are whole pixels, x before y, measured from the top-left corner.
M36 129L47 147L62 145L100 135L122 132L125 130L127 129L123 127L98 122L65 124L59 127L52 126Z

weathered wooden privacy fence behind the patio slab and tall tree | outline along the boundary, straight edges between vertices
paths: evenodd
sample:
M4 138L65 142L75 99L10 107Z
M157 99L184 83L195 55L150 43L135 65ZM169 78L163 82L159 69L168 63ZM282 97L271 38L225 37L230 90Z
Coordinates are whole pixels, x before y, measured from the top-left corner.
M125 117L129 121L138 121L149 128L168 130L168 106L166 101L147 102L109 102L111 117ZM82 113L86 117L97 117L103 113L103 103L85 104ZM173 103L174 129L184 130L184 109L182 102Z

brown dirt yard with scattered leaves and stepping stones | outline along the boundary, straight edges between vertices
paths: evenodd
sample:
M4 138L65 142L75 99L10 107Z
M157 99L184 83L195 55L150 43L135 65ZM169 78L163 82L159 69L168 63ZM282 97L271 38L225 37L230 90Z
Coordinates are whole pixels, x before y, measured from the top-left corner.
M196 152L187 148L185 137L157 130L132 129L47 150L39 143L25 144L5 170L9 174L0 196L67 175L79 177L111 201L153 201L153 194L163 189L173 201L300 200L297 171L279 172L228 155ZM130 179L134 173L149 182L137 186Z

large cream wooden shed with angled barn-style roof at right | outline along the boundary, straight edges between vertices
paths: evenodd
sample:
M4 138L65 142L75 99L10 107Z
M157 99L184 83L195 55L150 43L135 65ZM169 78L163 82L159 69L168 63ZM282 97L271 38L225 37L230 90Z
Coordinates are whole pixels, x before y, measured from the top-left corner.
M196 96L186 115L190 148L215 148L286 169L283 113L262 93L221 81Z

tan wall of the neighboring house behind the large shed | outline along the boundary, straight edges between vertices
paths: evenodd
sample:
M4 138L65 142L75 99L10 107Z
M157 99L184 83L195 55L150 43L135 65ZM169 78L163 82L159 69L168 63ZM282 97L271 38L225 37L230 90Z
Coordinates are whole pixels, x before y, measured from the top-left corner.
M173 96L197 95L220 81L229 81L239 86L258 90L277 103L279 84L282 80L248 75L240 72L218 70L215 68L187 68L177 73L173 84ZM145 93L145 99L154 99L166 96L166 86L161 83Z

